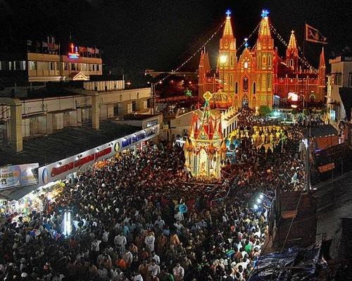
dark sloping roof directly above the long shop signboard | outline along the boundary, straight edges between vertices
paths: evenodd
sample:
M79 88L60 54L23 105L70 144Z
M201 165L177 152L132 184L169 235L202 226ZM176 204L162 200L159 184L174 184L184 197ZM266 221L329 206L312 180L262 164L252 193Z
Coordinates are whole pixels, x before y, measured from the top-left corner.
M63 158L79 154L113 139L141 130L140 127L120 125L113 121L101 121L100 130L92 125L65 127L51 135L23 140L23 151L15 153L10 147L0 146L0 166L8 164L53 163Z

